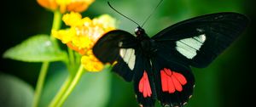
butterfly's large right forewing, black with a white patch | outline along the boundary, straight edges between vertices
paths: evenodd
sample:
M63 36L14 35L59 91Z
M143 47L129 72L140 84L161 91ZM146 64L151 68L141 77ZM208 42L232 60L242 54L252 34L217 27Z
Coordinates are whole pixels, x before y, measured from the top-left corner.
M247 21L242 14L207 14L167 27L152 39L189 65L206 67L241 34Z

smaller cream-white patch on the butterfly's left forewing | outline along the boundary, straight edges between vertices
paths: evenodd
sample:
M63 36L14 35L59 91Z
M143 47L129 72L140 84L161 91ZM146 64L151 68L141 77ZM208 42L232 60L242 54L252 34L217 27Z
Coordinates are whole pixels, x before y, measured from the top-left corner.
M136 59L135 50L133 48L120 48L119 53L129 68L133 70Z

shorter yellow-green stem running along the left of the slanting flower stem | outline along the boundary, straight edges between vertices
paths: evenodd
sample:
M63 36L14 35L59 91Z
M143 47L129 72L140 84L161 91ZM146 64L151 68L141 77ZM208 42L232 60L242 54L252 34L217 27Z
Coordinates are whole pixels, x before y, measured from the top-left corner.
M50 102L49 107L55 107L56 103L58 103L61 100L61 97L63 94L67 91L67 87L72 82L73 77L68 76L67 80L64 82L64 84L61 86L61 89L59 92L55 95L55 98Z

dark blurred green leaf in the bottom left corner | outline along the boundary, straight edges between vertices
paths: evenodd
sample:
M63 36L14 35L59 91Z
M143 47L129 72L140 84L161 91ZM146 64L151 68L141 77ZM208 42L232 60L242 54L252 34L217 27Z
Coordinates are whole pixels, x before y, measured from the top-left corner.
M0 72L0 104L3 107L31 107L33 89L15 76Z

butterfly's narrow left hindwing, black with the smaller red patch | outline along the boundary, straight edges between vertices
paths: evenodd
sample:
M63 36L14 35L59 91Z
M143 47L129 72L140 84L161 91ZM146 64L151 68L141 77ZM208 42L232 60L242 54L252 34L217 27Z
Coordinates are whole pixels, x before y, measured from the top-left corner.
M141 50L137 50L136 56L133 87L137 96L137 102L143 107L154 107L156 92L154 73L150 61L143 55Z

